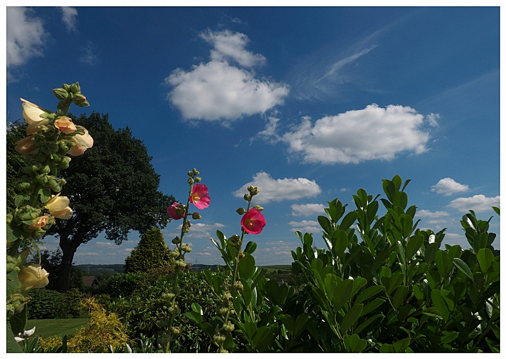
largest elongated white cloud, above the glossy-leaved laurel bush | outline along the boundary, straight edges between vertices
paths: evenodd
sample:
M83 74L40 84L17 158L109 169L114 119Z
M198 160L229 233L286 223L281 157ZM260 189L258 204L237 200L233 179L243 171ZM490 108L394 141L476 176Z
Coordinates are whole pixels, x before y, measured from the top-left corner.
M300 153L306 163L354 163L391 160L396 154L426 152L429 132L424 115L408 106L376 104L318 119L308 117L282 136L288 150Z

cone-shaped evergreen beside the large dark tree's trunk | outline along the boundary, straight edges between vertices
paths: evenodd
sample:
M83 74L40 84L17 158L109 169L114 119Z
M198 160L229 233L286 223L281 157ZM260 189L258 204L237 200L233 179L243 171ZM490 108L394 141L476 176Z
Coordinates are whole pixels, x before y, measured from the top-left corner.
M138 245L126 257L124 272L145 272L151 268L171 267L174 259L165 245L165 238L158 228L151 228L141 235Z

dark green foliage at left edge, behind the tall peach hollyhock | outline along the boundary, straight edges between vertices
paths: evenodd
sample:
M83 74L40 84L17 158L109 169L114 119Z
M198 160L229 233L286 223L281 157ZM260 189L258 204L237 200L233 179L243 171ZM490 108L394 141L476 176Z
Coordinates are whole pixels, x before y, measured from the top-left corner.
M23 156L14 149L15 143L26 135L26 125L19 119L7 128L7 213L16 208L13 196L17 194L15 185L19 181L21 169L25 166Z

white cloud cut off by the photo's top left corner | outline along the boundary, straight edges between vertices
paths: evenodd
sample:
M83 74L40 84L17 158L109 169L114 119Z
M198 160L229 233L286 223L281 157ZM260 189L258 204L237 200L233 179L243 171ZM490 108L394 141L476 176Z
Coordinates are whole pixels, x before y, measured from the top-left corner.
M7 68L24 65L30 58L44 56L42 47L49 33L43 21L30 17L33 10L7 7Z

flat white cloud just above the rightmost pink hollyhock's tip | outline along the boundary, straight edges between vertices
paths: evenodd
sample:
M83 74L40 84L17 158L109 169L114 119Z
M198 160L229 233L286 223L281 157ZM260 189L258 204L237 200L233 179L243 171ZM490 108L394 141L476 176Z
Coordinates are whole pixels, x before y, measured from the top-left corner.
M251 182L246 183L234 192L236 197L248 193L247 187L258 187L260 193L253 197L255 203L280 202L284 200L298 200L304 197L313 197L321 193L320 186L315 180L307 178L273 179L266 172L259 172L253 176Z

